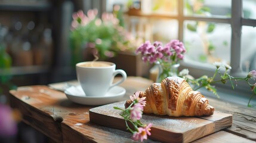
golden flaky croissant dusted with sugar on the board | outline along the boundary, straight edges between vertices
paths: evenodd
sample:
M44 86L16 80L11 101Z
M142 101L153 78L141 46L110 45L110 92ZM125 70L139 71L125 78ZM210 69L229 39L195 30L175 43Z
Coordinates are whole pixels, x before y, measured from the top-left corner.
M181 77L167 77L161 83L153 83L140 98L146 97L143 113L168 116L210 116L214 107L198 91L193 91L189 83ZM125 108L131 104L125 102Z

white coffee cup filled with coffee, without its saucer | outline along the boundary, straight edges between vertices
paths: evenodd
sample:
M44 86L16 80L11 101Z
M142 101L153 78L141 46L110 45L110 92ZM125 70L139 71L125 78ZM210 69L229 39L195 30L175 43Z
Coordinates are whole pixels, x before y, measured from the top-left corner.
M117 74L122 78L113 83ZM113 86L127 79L124 70L116 70L116 64L106 61L85 61L76 64L76 76L87 97L103 97Z

